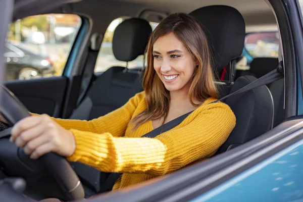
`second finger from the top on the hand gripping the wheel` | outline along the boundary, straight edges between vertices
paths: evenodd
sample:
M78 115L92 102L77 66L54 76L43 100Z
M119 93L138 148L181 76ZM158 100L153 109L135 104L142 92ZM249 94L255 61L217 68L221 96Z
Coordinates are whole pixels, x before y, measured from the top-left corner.
M41 135L44 131L43 125L37 125L36 127L30 128L24 132L22 132L19 136L17 136L15 143L17 146L22 147L27 142Z

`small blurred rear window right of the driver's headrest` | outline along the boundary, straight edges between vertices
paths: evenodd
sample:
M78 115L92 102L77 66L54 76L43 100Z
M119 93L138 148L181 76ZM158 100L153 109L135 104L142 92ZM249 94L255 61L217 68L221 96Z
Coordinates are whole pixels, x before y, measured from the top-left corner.
M245 49L252 58L278 58L280 39L276 32L248 33L245 36Z

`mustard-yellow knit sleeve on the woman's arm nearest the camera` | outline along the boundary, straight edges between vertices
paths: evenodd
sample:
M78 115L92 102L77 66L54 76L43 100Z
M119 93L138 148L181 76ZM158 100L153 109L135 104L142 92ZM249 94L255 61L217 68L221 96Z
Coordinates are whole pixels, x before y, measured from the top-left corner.
M76 150L68 159L104 172L163 175L178 170L214 155L235 126L233 112L223 103L206 105L190 116L196 117L156 138L113 137L72 129Z

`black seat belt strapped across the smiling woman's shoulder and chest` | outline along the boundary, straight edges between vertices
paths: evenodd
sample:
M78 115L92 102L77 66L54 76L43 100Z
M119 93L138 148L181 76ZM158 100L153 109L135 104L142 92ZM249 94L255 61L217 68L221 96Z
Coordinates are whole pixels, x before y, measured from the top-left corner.
M274 81L277 81L279 79L282 79L284 77L284 70L283 70L283 61L280 61L279 66L277 67L277 69L267 73L266 75L260 77L259 79L249 83L248 85L240 88L239 90L228 94L210 104L213 103L217 103L220 102L230 96L239 94L239 93L243 93L246 92L248 90L251 90L253 88L259 87L259 86L263 86L263 85L267 85L269 83L272 83ZM164 124L164 126L160 126L148 133L146 133L145 135L143 135L142 137L149 137L149 138L154 138L158 135L161 134L161 132L166 132L168 130L171 130L172 128L176 127L177 125L179 125L186 117L188 117L189 114L191 114L192 112L189 112L187 114L184 114L166 124ZM111 173L109 174L109 176L107 177L107 179L105 180L105 182L103 183L102 187L100 188L100 193L102 192L106 192L106 191L111 191L114 184L116 183L116 181L118 180L118 178L122 175L122 173Z

